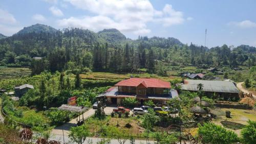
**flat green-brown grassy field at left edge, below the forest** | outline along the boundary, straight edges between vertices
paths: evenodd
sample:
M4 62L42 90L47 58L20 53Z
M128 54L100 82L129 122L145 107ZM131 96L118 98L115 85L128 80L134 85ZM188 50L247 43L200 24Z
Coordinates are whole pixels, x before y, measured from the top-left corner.
M0 79L18 78L29 76L31 70L29 68L0 68Z

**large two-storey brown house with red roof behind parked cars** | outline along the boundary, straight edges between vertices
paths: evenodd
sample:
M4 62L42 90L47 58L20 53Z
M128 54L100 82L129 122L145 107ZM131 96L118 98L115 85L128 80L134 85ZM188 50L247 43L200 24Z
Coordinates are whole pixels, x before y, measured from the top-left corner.
M103 94L109 104L121 105L125 97L133 97L143 105L146 100L158 103L166 102L178 96L176 90L171 90L170 83L156 78L129 78L121 80Z

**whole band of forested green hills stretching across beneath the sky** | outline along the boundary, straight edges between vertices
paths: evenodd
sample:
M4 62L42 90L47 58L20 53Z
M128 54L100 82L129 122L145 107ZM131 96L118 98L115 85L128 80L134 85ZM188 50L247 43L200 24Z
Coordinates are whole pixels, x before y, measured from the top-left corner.
M33 60L33 57L43 57ZM0 66L30 66L33 74L49 70L91 69L163 73L169 66L255 66L256 48L184 45L173 37L139 36L132 40L116 29L95 33L79 28L56 30L36 24L0 39Z

